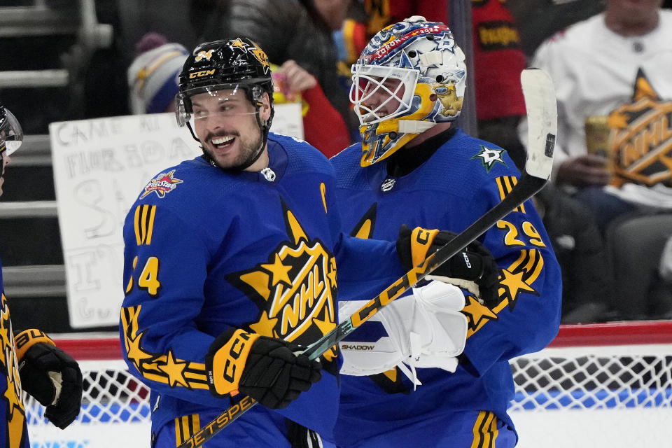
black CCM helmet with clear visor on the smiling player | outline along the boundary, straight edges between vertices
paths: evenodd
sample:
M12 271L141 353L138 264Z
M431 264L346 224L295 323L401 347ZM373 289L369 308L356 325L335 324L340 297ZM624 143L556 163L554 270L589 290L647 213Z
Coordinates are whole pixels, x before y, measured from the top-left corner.
M207 93L211 97L226 101L227 96L241 91L254 106L253 114L262 134L262 144L251 158L234 167L235 169L245 169L252 165L266 146L274 112L273 81L266 53L253 41L241 37L198 45L187 58L179 75L179 92L175 106L178 125L186 125L192 137L199 141L194 131L194 120L207 116L194 116L191 98ZM270 117L262 123L260 109L263 106L264 93L268 94L271 111ZM220 113L226 115L230 112L223 110ZM208 158L207 153L205 155Z

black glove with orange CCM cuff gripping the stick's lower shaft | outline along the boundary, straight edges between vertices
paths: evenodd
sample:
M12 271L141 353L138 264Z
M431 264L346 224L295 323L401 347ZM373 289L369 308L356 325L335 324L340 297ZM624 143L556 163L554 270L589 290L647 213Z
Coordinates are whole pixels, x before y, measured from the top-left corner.
M322 377L321 365L295 355L295 344L230 328L211 344L205 359L210 391L238 391L271 409L282 409Z

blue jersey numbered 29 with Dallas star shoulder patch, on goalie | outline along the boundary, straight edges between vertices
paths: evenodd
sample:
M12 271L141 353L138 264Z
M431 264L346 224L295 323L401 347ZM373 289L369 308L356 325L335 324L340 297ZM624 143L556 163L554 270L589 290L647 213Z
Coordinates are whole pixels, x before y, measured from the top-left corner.
M387 175L384 162L360 167L360 158L357 144L331 159L344 231L388 241L395 241L402 224L461 232L500 202L519 176L502 148L459 129L426 162L399 178ZM500 297L495 307L488 308L464 290L468 360L462 360L454 373L419 369L423 385L415 391L398 370L377 375L376 382L372 377L342 375L335 429L339 447L495 446L479 441L490 437L486 431L491 429L487 421L493 421L492 413L510 426L510 437L515 437L506 412L514 386L507 360L542 349L556 335L560 270L531 201L505 216L479 241L502 269ZM342 288L339 295L339 300L362 298L349 288ZM372 324L357 331L366 332L366 325ZM391 393L395 388L407 394ZM461 430L470 440L451 437L453 430Z

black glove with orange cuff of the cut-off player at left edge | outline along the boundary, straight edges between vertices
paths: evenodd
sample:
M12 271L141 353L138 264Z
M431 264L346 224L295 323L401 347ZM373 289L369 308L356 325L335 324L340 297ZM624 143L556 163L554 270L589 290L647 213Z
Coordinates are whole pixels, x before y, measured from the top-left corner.
M45 406L44 416L58 428L72 423L82 402L82 372L68 353L39 330L25 330L14 338L24 391Z

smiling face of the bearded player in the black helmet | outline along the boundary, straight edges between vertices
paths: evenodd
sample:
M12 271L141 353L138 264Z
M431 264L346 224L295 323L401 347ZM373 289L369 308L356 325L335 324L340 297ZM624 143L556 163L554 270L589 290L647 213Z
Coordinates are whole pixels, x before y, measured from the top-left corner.
M218 90L191 97L194 130L203 151L218 167L230 169L245 165L263 143L255 107L245 92ZM268 96L262 97L259 118L265 123L270 116Z

